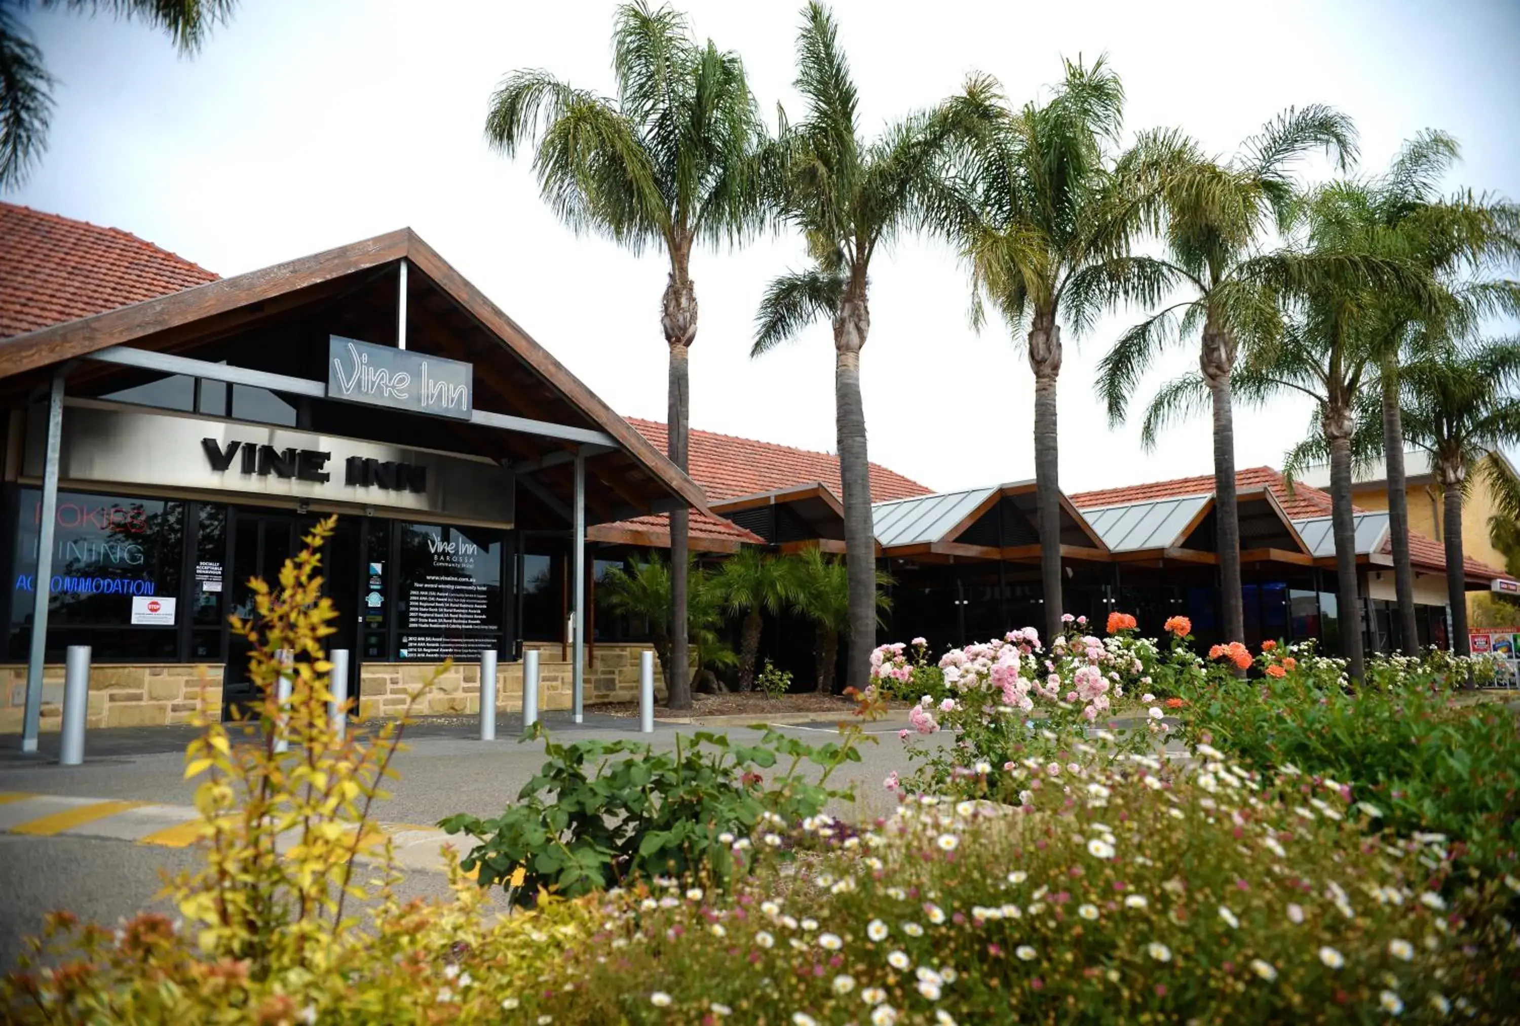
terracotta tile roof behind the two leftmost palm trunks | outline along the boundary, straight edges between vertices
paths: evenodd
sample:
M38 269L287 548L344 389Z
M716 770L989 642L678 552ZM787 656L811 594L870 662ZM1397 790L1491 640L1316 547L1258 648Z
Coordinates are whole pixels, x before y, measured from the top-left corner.
M655 448L666 451L664 424L637 416L629 416L628 423ZM690 467L692 480L702 486L708 499L736 499L813 482L827 485L836 496L844 494L838 456L716 432L692 430ZM871 464L871 502L927 494L930 489L917 480Z

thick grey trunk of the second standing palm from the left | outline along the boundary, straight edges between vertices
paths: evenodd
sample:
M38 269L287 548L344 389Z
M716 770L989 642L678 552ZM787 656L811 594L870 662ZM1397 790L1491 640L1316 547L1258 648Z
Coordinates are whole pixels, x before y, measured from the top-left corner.
M834 316L834 427L845 505L845 570L850 576L847 679L866 689L876 648L876 532L871 529L871 462L860 400L860 347L871 330L865 287L851 287ZM831 681L831 678L830 678Z

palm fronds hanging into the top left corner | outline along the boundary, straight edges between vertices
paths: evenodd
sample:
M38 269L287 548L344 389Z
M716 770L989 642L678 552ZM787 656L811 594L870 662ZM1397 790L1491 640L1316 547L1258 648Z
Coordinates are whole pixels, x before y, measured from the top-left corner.
M24 3L20 6L26 6ZM163 29L179 53L201 49L216 24L226 24L237 0L36 0L43 11L67 8L144 21ZM15 188L47 149L52 87L43 52L0 0L0 188Z

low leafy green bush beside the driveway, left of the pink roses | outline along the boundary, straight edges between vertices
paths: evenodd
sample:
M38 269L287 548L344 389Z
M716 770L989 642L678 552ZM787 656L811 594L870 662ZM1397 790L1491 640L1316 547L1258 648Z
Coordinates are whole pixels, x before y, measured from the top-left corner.
M458 815L439 825L479 844L465 856L482 886L503 883L515 901L540 889L579 897L654 876L725 885L763 819L795 822L853 793L828 787L845 762L860 762L859 730L812 746L765 728L758 745L725 734L676 736L673 752L634 742L547 742L547 760L517 804L496 819ZM613 760L613 755L622 758ZM790 758L765 781L765 771ZM822 768L810 781L803 763ZM736 848L736 842L740 844Z

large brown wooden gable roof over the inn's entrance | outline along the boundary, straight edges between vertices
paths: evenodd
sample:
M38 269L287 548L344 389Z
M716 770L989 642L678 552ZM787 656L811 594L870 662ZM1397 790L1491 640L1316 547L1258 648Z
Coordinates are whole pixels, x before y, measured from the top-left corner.
M410 269L406 286L409 348L471 362L480 395L477 409L611 435L617 447L590 456L585 464L588 483L596 483L594 494L587 494L593 523L681 503L705 508L707 497L690 477L410 228L0 339L0 392L26 395L44 380L47 368L112 345L192 357L234 348L236 353L223 353L223 359L237 356L231 362L258 368L260 360L271 359L269 351L260 348L266 344L258 333L293 337L292 322L324 328L334 318L350 318L366 325L363 330L374 333L372 337L389 342L395 333L403 261ZM318 347L298 348L293 356L312 357L315 365L307 368L307 377L321 377L312 372L324 363ZM264 369L289 372L292 368ZM70 372L70 386L76 377L99 382L117 371L85 360L78 374ZM538 467L532 471L534 483L544 488L529 491L540 499L570 494L565 442L473 426L447 430L468 435L459 442L474 447L471 451L499 458L524 473L526 465Z

